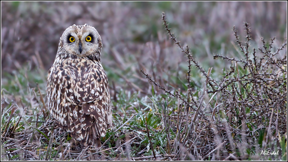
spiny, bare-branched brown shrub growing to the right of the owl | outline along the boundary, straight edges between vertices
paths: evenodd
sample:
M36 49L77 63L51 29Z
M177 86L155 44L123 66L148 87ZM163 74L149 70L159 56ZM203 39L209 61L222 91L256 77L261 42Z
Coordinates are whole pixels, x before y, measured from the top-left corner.
M187 94L168 90L151 76L143 75L172 98L178 99L178 110L171 112L168 100L162 100L162 119L167 133L169 154L182 160L246 160L286 159L287 139L287 57L277 58L287 41L273 50L275 38L254 49L250 46L250 27L244 22L245 42L241 42L235 26L233 34L244 60L215 54L214 59L232 61L221 80L211 78L193 58L189 46L182 46L162 13L165 30L188 57ZM205 77L199 97L190 87L191 66ZM204 102L205 101L205 102ZM173 114L173 116L171 115ZM170 132L175 136L170 136ZM174 134L174 133L173 133ZM283 137L281 137L283 136ZM280 150L279 155L263 156L262 151Z

